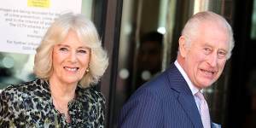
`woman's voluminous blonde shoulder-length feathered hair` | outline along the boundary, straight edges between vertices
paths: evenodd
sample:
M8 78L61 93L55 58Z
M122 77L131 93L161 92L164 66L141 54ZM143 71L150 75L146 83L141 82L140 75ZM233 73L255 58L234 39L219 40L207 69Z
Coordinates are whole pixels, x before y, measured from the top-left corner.
M53 73L52 52L55 44L60 44L66 37L67 32L73 30L78 34L81 42L90 48L89 73L84 73L79 84L85 88L90 84L96 84L108 67L108 55L102 48L96 26L84 18L84 15L67 13L60 15L49 26L41 44L37 48L34 61L34 73L40 79L49 79Z

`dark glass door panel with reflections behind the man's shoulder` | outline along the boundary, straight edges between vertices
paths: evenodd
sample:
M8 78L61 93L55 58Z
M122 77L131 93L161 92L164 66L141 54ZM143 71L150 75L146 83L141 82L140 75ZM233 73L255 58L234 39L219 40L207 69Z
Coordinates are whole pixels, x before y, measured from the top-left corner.
M172 3L172 6L170 6ZM117 120L119 109L139 86L161 72L167 12L175 14L173 0L124 0L119 39L119 67L115 94ZM168 32L170 33L170 32ZM116 122L115 122L116 123ZM114 123L114 124L115 124Z

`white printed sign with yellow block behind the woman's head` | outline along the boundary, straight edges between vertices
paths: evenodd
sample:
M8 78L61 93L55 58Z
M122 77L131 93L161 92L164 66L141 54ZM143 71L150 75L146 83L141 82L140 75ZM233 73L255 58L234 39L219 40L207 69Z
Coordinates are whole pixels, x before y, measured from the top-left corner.
M7 0L0 4L0 51L35 54L47 28L65 12L81 13L82 0Z

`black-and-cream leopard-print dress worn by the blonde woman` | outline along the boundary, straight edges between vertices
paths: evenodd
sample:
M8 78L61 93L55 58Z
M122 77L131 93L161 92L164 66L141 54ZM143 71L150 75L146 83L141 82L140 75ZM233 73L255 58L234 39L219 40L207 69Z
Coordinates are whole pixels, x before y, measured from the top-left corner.
M35 79L10 85L0 94L0 127L104 127L105 99L92 87L76 89L68 102L71 123L52 102L48 81Z

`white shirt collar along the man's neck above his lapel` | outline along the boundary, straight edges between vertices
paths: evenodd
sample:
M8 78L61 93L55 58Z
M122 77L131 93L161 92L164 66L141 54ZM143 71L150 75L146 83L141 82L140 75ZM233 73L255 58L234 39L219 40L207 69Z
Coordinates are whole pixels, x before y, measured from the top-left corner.
M183 75L183 78L186 80L187 84L189 84L189 89L191 90L192 94L195 95L199 90L192 84L191 80L189 79L187 73L183 70L183 67L179 65L177 60L174 62L174 65L177 67L177 70Z

